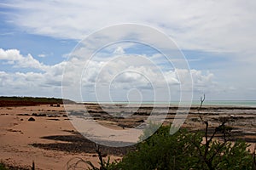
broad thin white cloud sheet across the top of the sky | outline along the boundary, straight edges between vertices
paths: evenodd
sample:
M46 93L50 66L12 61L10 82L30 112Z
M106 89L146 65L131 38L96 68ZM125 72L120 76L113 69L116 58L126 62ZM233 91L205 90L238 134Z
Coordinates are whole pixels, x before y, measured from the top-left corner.
M244 52L255 49L256 2L239 1L9 1L9 18L26 31L81 39L119 23L154 26L182 48ZM4 4L2 3L2 6Z

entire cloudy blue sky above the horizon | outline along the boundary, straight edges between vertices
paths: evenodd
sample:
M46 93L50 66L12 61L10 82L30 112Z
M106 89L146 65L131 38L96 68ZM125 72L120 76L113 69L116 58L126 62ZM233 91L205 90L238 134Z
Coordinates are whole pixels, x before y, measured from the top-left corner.
M168 90L178 100L190 76L193 87L183 92L191 88L195 100L203 94L208 100L256 100L255 8L254 0L0 0L0 96L62 97L63 84L79 83L86 101L165 101ZM75 52L90 47L83 46L90 35L127 23L172 39L188 70L138 42L116 42L97 50L90 62L88 56L73 62ZM111 42L119 31L107 35ZM69 93L65 97L81 99Z

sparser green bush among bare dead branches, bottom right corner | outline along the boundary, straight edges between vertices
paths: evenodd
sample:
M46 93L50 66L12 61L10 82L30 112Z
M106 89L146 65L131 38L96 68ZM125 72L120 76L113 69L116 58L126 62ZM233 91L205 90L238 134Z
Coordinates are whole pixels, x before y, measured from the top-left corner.
M237 141L219 142L213 140L207 150L207 155L199 156L202 158L197 168L201 169L253 169L253 156L247 151L245 142ZM205 153L206 144L198 148L198 153Z

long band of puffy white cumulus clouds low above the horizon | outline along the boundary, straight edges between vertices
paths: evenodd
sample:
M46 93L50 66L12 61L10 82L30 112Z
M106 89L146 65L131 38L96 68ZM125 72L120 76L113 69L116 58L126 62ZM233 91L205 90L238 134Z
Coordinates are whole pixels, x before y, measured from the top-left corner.
M143 57L146 56L143 55ZM5 93L5 95L44 94L52 96L55 94L55 96L61 96L64 69L66 69L64 87L79 87L81 81L83 95L90 96L91 93L101 92L102 99L105 99L106 93L108 96L108 92L112 92L118 99L122 99L120 96L125 98L125 93L132 89L140 90L143 95L148 96L147 99L152 97L154 91L165 95L164 89L180 90L181 83L186 84L187 77L191 75L194 80L194 88L197 90L204 91L212 87L212 84L214 85L213 74L210 72L203 74L196 70L160 70L155 65L143 64L143 60L136 62L136 59L138 59L137 55L133 57L127 55L126 57L122 56L121 59L90 60L84 65L79 59L73 58L55 65L44 65L34 59L31 54L24 56L17 49L3 50L0 48L1 61L12 62L9 65L16 68L34 69L23 72L0 71L0 88L4 89L1 90L2 95ZM6 64L2 63L2 65ZM70 65L72 66L70 67ZM81 68L83 72L74 68ZM72 98L72 96L69 97ZM93 99L95 98L92 97L91 100Z

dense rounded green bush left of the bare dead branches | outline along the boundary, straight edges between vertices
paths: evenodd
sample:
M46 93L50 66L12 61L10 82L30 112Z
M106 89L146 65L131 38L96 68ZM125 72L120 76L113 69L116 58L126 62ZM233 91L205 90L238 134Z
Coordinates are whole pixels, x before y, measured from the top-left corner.
M160 127L149 139L138 144L137 151L131 152L117 165L118 169L186 169L195 164L191 154L195 147L190 133L179 131L169 134L170 127ZM199 136L195 138L201 142Z

